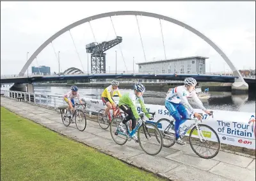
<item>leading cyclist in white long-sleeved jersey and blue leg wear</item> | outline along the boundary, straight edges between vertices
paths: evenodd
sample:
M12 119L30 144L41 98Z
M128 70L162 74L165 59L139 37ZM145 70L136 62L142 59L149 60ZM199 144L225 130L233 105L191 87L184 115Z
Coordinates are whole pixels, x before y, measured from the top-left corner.
M186 118L189 118L189 113L186 108L199 120L202 116L195 112L193 107L189 104L187 97L192 97L198 107L205 113L211 114L209 110L205 109L201 100L197 97L196 91L196 80L192 77L184 80L184 86L175 87L165 98L165 107L170 112L170 116L175 119L175 141L179 145L185 145L185 142L179 138L179 126L186 122ZM186 107L186 108L185 108ZM180 118L182 116L182 118Z

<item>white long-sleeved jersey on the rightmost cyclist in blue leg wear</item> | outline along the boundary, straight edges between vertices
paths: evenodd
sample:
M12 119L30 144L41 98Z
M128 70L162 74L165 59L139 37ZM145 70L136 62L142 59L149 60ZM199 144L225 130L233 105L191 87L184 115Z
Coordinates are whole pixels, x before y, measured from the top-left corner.
M195 111L193 107L189 104L187 97L192 97L200 109L202 109L203 111L206 110L201 100L197 97L195 90L190 93L185 86L175 87L168 93L165 99L175 104L179 104L180 102L182 102L184 107L186 107L192 114L194 114Z

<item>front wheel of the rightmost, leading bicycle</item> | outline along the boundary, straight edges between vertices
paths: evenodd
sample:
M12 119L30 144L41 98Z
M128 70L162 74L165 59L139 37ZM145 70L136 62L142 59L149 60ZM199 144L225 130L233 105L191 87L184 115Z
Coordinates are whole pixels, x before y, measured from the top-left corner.
M220 151L220 138L214 129L208 125L198 124L189 134L189 144L192 150L204 159L215 157Z

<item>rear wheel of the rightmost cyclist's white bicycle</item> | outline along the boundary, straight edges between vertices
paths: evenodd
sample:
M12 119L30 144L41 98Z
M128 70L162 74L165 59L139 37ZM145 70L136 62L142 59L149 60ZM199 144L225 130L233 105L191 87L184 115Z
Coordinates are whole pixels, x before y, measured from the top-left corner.
M174 129L173 122L171 122L166 118L163 118L158 120L156 125L159 128L161 135L163 137L163 146L164 147L173 146L175 144L175 130L173 130ZM166 129L167 127L168 129ZM157 138L157 141L159 141L158 138Z

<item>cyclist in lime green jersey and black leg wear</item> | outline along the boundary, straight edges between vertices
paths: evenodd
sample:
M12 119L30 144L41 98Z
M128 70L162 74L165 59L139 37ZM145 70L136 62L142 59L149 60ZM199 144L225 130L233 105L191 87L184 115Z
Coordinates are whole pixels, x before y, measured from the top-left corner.
M150 114L148 114L147 109L145 108L143 93L145 92L145 86L141 83L134 84L134 90L130 93L125 93L119 100L118 105L122 111L127 113L128 115L124 118L124 120L118 125L118 129L126 134L125 131L125 123L129 120L132 120L132 130L136 127L136 122L140 118L140 115L137 112L136 104L140 103L142 111L146 114L148 118L151 119ZM138 138L134 133L131 136L134 141L138 142Z

